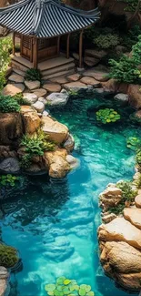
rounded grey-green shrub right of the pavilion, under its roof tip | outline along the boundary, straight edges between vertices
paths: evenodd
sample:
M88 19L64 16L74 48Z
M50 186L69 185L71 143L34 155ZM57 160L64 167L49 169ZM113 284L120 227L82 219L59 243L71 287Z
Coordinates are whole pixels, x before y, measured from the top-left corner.
M108 48L113 48L117 45L120 44L120 38L117 34L105 34L105 35L99 35L94 39L94 42L96 46L103 48L103 49L108 49Z

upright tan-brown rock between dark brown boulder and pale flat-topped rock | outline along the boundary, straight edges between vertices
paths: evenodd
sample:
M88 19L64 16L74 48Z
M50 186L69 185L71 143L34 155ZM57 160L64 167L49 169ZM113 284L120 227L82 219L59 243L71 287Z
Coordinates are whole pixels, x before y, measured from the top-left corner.
M37 112L32 107L22 106L21 113L23 117L25 133L34 134L41 124L41 119L38 117Z

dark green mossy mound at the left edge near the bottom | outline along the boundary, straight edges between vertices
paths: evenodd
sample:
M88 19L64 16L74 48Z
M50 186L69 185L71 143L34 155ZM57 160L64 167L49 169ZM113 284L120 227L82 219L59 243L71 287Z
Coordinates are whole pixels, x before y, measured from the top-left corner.
M0 244L0 266L11 268L14 267L17 262L18 257L15 248Z

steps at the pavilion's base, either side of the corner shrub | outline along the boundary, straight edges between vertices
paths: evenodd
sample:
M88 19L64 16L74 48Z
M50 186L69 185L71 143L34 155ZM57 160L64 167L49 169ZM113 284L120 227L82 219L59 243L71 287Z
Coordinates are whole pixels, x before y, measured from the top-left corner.
M15 54L12 57L12 67L16 72L18 70L23 72L25 76L25 71L29 68L33 68L33 64L26 60L20 54ZM42 76L45 80L73 74L75 72L75 60L73 57L66 58L63 54L60 56L45 60L44 62L38 63L38 69L41 71ZM21 75L22 75L21 72Z

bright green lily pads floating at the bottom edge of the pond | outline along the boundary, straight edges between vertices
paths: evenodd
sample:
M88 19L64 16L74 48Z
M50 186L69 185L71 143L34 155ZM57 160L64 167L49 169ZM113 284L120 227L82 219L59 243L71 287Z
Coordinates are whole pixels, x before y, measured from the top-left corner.
M94 291L91 291L89 285L78 285L76 280L66 279L64 276L58 278L55 284L45 285L45 291L49 296L94 296Z

